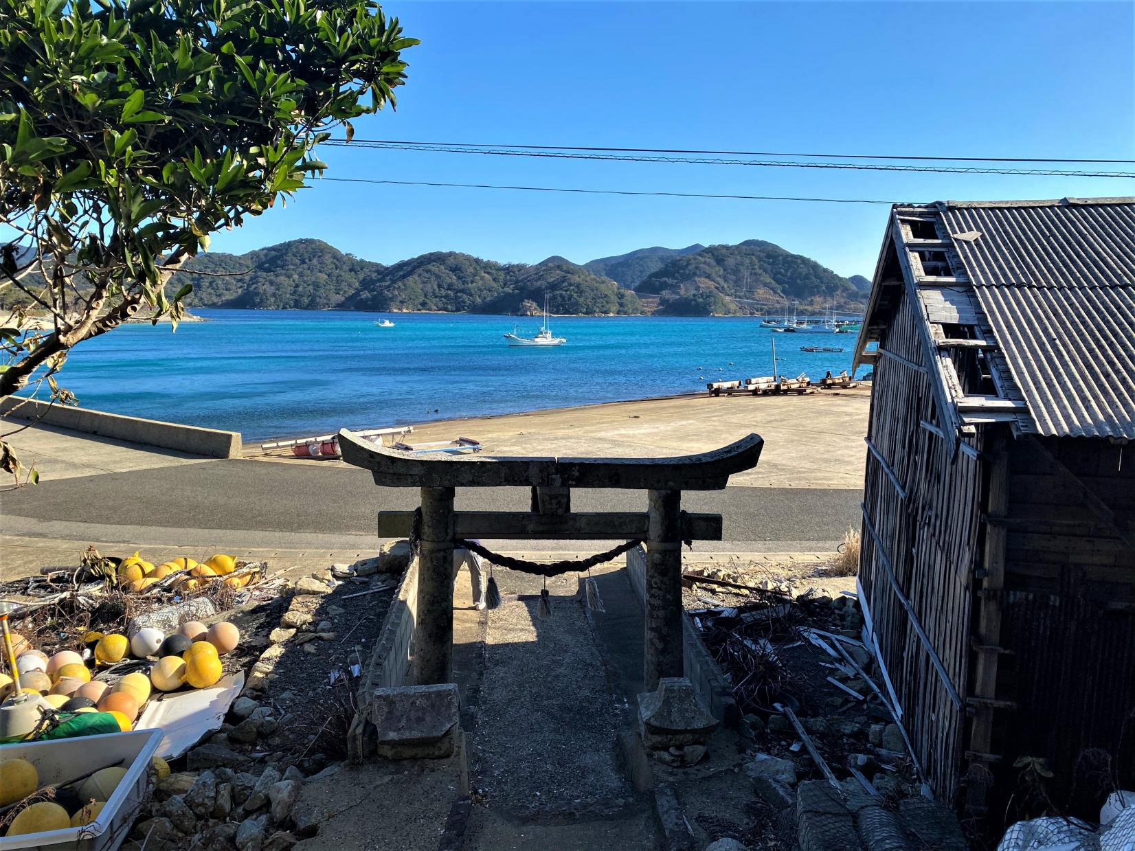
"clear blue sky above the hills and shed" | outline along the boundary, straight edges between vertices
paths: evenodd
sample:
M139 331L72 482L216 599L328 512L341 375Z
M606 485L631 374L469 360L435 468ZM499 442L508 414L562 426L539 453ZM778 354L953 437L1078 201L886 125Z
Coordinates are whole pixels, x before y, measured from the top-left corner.
M392 2L396 112L360 138L1135 159L1130 2ZM1135 180L557 161L325 148L330 177L934 201L1132 195ZM1074 168L1074 167L1061 167ZM1102 167L1135 170L1132 167ZM215 251L319 237L585 262L768 239L871 276L886 208L317 182Z

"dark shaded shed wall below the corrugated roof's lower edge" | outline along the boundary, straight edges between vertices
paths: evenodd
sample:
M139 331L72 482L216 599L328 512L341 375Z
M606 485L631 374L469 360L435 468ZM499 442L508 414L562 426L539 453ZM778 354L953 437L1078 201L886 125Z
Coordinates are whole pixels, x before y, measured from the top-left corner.
M1121 528L1135 530L1135 446L1096 438L1040 443L1107 503ZM998 692L1018 709L999 714L1002 765L1009 772L1018 756L1044 757L1062 800L1091 786L1091 777L1077 776L1084 769L1077 760L1085 748L1102 748L1130 789L1135 760L1119 749L1125 718L1125 747L1135 747L1135 550L1056 474L1032 439L1011 441L1008 490L1001 630L1014 655L1002 659ZM1099 802L1083 806L1090 811Z

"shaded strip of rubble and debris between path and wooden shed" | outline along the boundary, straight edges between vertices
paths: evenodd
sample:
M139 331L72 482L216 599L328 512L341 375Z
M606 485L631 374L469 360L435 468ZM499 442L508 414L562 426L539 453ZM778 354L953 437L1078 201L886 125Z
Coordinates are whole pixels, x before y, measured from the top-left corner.
M730 684L745 773L773 812L767 821L784 826L781 846L843 851L885 839L886 848L964 851L957 819L931 798L885 672L860 641L857 599L705 579L737 585L732 605L688 614Z

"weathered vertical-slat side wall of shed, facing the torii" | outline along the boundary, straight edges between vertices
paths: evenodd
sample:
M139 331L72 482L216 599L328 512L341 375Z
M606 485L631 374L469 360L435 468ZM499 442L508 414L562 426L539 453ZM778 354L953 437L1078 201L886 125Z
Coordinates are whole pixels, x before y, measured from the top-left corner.
M953 452L951 436L919 424L940 421L917 321L903 296L881 340L894 356L880 356L875 368L868 424L874 450L867 455L864 481L859 575L902 722L935 795L952 803L965 751L966 713L914 629L886 564L964 700L983 470L972 454ZM978 452L981 439L969 438ZM868 523L884 551L878 551Z

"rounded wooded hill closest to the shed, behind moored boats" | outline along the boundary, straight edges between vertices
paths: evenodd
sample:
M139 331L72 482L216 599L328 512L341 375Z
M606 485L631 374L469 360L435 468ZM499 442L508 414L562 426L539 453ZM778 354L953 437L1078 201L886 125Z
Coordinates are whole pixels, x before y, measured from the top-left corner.
M861 294L847 278L762 239L673 258L636 289L657 294L661 313L763 313L767 307L762 305L770 302L796 302L802 309L863 306Z

